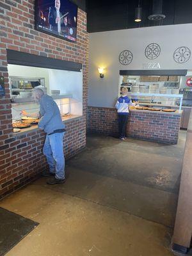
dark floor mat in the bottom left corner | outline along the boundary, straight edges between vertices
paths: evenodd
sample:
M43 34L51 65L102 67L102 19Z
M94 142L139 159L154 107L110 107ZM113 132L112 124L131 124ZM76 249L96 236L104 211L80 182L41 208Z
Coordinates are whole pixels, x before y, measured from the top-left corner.
M37 225L33 220L0 207L0 256L11 250Z

